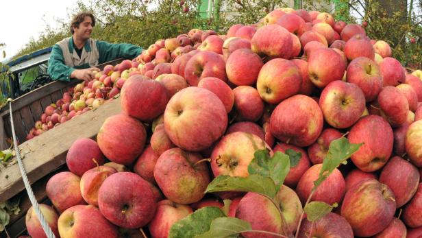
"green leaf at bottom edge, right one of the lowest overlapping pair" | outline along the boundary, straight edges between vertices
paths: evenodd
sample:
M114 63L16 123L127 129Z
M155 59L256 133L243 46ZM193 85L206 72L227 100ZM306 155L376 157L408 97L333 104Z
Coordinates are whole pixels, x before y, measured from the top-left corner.
M249 222L234 217L219 217L212 221L208 232L197 235L195 238L238 237L238 234L245 230L252 230Z

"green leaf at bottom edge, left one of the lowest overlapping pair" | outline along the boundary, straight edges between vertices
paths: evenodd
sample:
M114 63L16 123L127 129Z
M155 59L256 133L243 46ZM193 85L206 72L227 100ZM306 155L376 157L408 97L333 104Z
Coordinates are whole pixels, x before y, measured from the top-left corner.
M193 238L210 230L211 222L217 217L225 217L223 211L215 206L198 209L171 226L169 238Z

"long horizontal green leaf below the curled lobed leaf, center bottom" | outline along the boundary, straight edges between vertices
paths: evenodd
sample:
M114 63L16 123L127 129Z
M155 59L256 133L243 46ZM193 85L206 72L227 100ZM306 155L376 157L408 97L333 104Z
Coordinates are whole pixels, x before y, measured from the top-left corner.
M271 178L265 178L258 174L251 174L245 178L231 177L227 175L218 176L210 182L206 193L219 191L245 191L260 193L268 198L275 198L275 185Z

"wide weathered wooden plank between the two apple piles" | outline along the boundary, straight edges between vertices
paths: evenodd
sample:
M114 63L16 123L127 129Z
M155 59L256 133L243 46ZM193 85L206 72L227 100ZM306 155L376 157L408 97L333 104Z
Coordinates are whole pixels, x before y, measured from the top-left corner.
M103 104L97 110L66 121L62 125L48 130L34 139L19 145L25 157L23 164L31 182L36 182L54 169L66 163L66 153L73 141L78 138L95 138L106 118L121 112L120 98ZM20 191L24 186L18 164L0 170L0 202L4 202Z

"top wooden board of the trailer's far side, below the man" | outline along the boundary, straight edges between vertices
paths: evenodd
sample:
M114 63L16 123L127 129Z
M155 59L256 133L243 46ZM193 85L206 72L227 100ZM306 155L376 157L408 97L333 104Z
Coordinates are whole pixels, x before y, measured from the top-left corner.
M25 95L22 95L21 97L14 99L12 102L12 108L14 111L19 110L23 108L23 106L26 106L27 104L31 104L32 102L38 99L41 99L42 97L45 97L46 95L50 95L51 93L54 93L55 91L60 90L60 88L65 88L66 86L77 84L77 82L80 82L80 80L71 80L70 82L62 82L62 81L50 82L40 88L36 88L36 90L30 93L27 93ZM0 112L1 112L0 116L3 117L3 115L9 113L9 107L1 108Z

